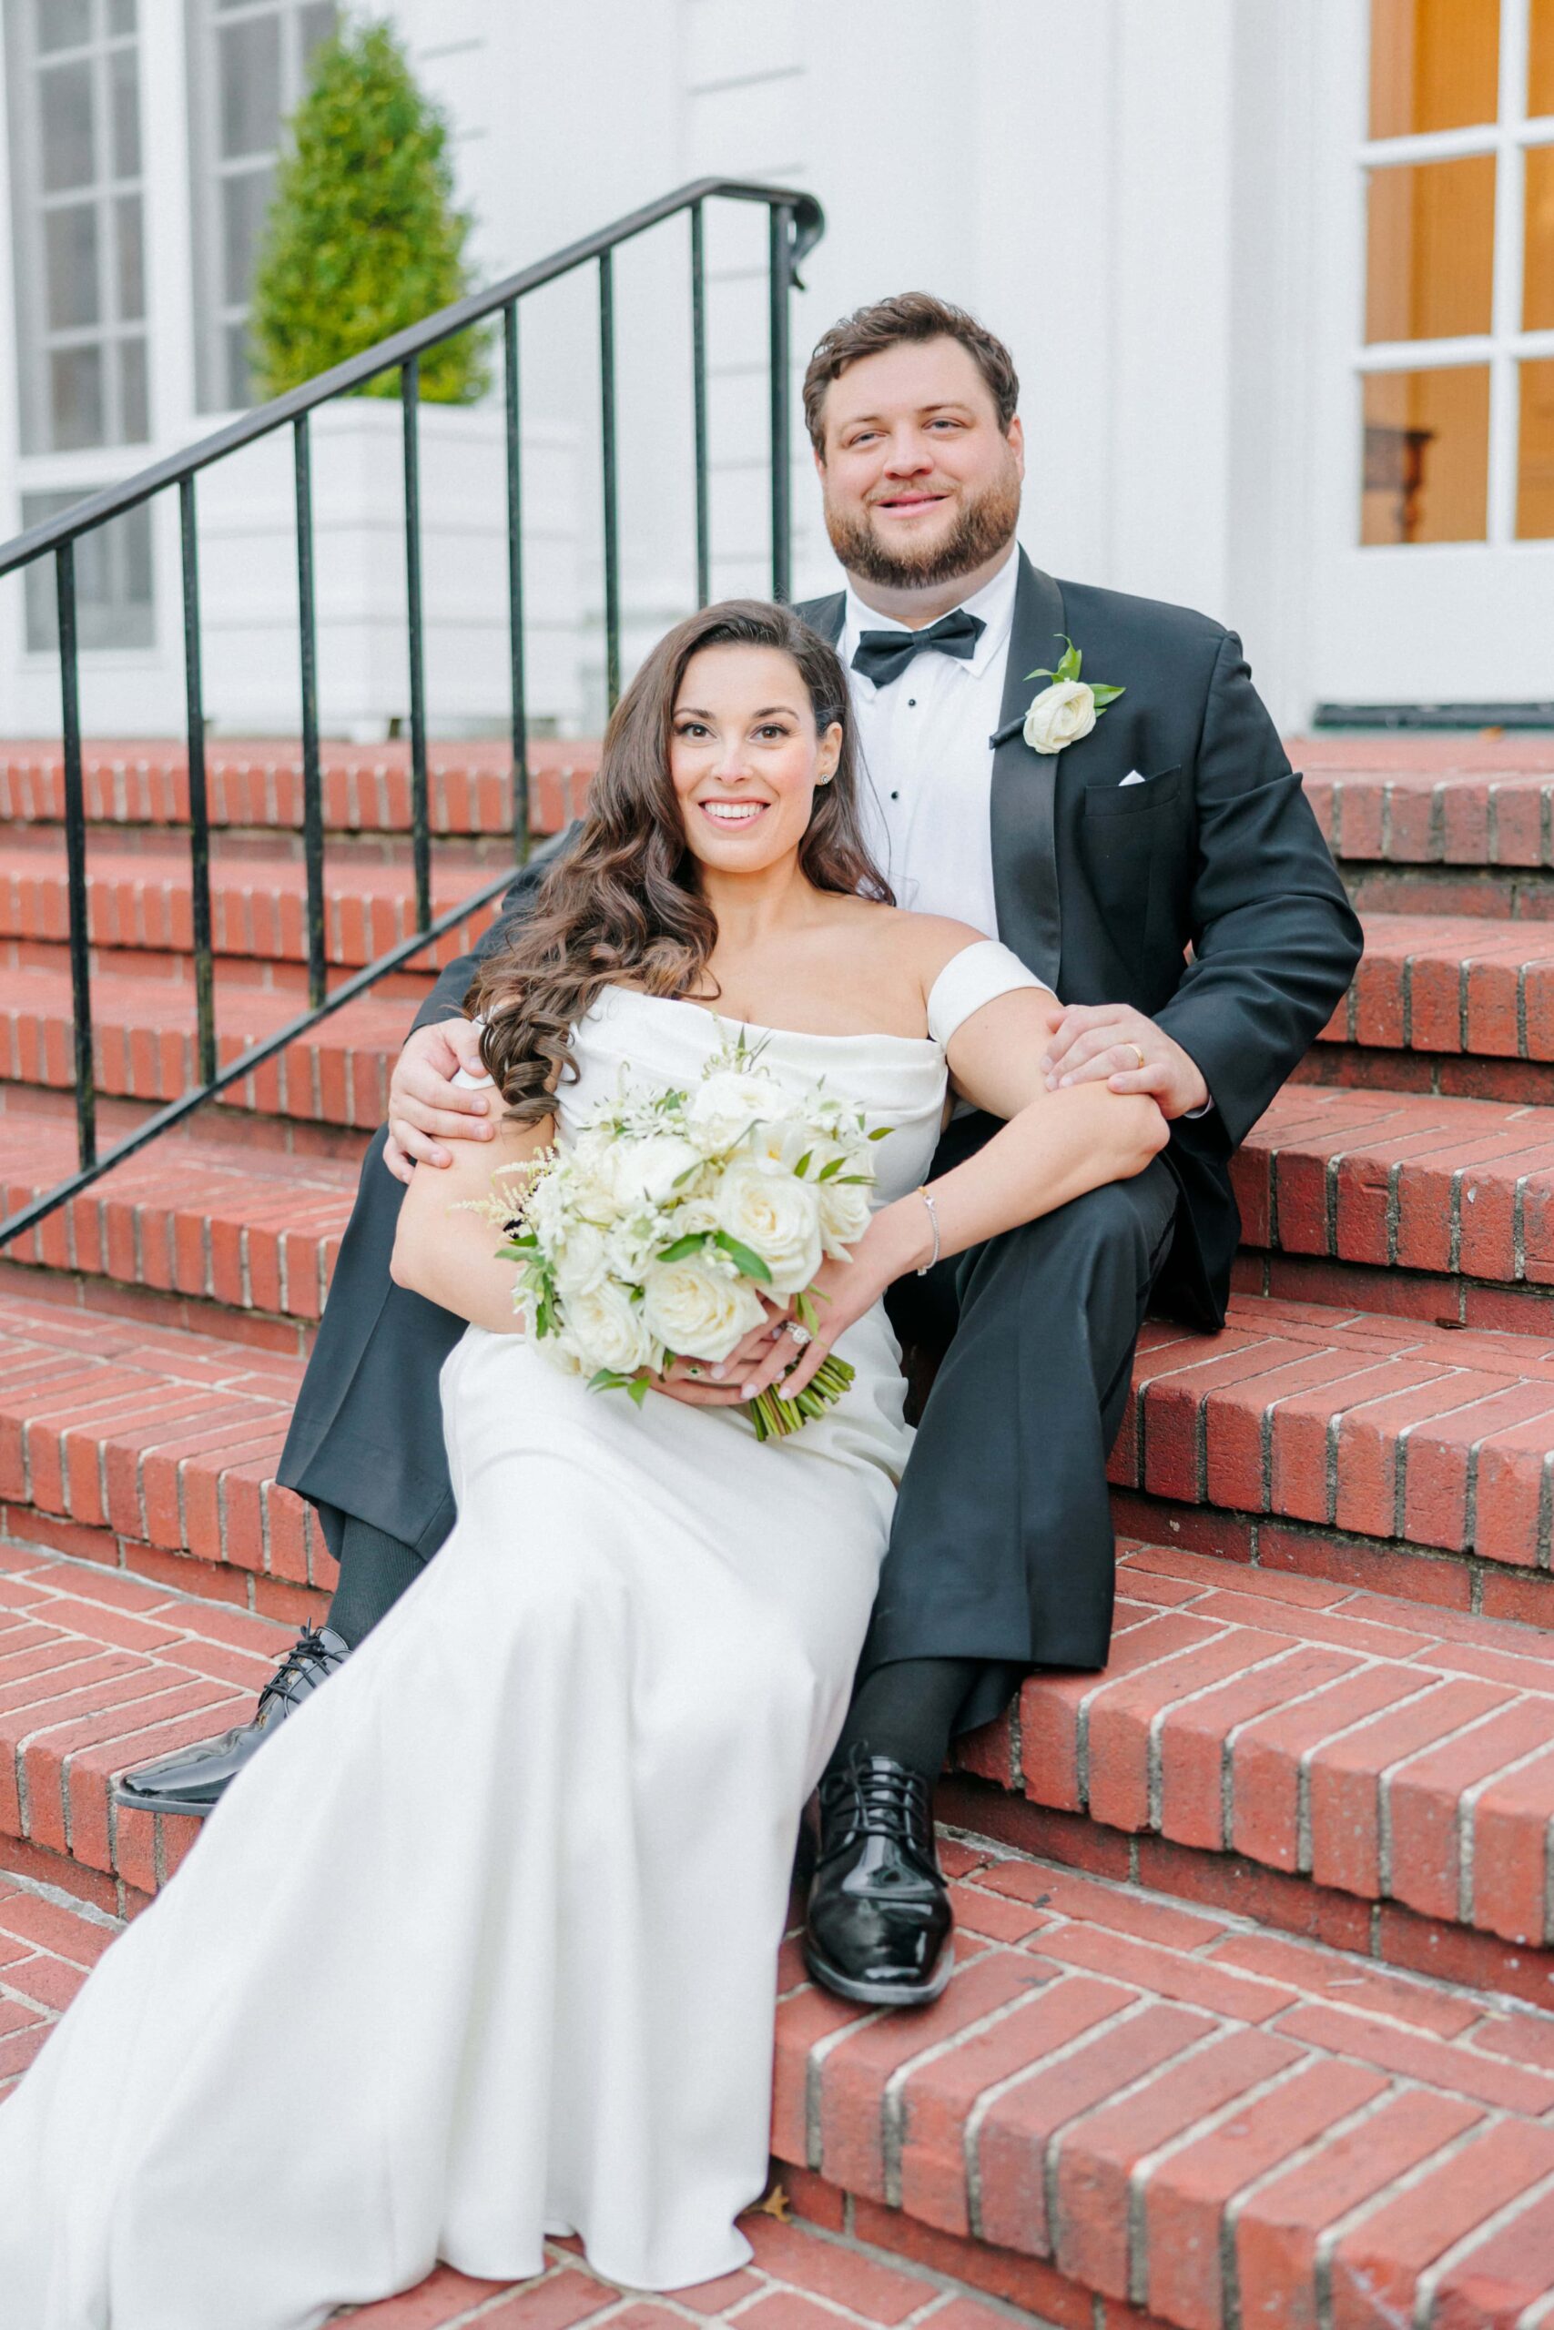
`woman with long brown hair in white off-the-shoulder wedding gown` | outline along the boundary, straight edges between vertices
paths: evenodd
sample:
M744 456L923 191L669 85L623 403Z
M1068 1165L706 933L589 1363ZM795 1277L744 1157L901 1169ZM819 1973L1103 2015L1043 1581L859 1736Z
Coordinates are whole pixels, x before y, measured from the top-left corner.
M471 1321L443 1370L459 1519L256 1757L0 2106L5 2330L315 2330L438 2258L515 2281L741 2265L767 2179L776 1950L911 1433L883 1291L1165 1142L1037 1069L1055 1002L899 913L857 827L834 652L734 601L648 657L589 811L471 997L510 1114L417 1172L394 1277ZM529 1349L459 1200L734 1028L890 1132L876 1212L722 1370L638 1407ZM923 1188L951 1093L1006 1118ZM753 1391L857 1370L797 1438ZM1032 1417L1039 1431L1041 1419Z

